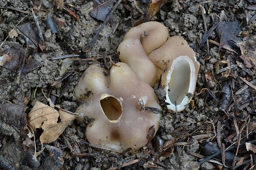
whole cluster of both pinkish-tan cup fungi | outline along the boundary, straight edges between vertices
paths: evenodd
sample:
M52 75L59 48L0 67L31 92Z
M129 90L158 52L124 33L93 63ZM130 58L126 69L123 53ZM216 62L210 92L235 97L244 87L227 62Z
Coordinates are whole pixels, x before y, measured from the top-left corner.
M194 51L180 36L168 37L158 22L142 23L126 33L117 52L123 63L109 70L91 65L75 88L83 100L77 113L93 118L86 127L92 144L123 151L147 144L149 128L159 129L161 114L140 111L145 107L161 109L152 86L161 78L168 109L182 111L191 100L197 82L199 63ZM188 95L188 93L191 93Z

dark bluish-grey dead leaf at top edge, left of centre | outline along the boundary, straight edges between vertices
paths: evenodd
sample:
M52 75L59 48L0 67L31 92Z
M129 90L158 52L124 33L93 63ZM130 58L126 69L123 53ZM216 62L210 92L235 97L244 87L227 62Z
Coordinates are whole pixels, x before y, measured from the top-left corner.
M97 1L95 1L97 2ZM102 3L97 6L95 9L92 9L90 16L100 21L105 21L107 14L112 9L114 5L114 0L108 0L107 2Z

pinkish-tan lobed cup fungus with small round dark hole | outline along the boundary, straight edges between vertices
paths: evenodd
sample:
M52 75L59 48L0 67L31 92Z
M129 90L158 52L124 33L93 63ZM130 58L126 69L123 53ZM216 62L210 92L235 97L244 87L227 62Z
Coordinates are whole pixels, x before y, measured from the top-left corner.
M78 107L84 116L95 119L86 128L92 144L101 144L123 151L140 149L147 144L149 128L159 128L161 114L140 111L139 100L145 107L161 109L154 90L140 80L126 63L116 63L110 71L91 65L75 88L75 96L85 103Z

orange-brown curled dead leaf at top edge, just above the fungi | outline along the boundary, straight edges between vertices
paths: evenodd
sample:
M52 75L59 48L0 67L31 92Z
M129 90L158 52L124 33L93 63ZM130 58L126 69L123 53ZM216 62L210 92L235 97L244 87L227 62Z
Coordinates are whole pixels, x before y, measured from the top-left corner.
M149 10L147 12L147 14L140 19L139 21L136 21L133 26L138 26L141 23L150 21L155 14L159 11L159 9L166 3L166 2L171 2L172 0L152 0L152 3L149 4Z

